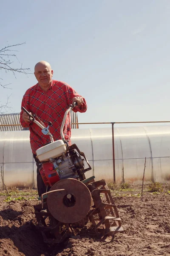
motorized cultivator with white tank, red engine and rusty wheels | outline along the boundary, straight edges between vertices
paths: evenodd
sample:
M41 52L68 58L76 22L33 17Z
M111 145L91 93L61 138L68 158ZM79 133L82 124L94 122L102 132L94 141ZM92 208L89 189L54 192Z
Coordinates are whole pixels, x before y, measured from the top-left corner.
M121 219L113 201L111 191L105 180L95 181L94 176L86 179L85 172L91 166L85 154L76 144L71 146L64 138L63 128L69 111L65 112L61 125L61 140L54 141L42 122L36 120L23 108L29 119L42 128L43 134L50 136L51 143L39 148L40 174L50 190L39 198L41 204L35 205L35 217L42 236L47 243L60 243L74 234L77 228L83 228L88 221L100 237L113 236L123 231ZM45 211L41 211L41 209Z

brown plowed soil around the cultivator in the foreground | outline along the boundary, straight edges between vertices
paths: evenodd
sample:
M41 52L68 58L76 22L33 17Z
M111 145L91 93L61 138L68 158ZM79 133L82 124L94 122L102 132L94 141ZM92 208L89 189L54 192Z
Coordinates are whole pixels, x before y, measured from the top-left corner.
M88 224L60 246L43 243L34 218L36 199L7 203L0 196L0 256L170 256L170 195L135 193L114 198L123 233L102 241Z

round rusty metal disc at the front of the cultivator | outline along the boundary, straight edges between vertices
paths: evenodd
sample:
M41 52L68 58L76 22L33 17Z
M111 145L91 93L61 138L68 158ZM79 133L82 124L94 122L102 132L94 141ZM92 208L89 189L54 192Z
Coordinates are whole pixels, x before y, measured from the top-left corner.
M48 209L58 221L74 223L88 214L91 207L91 192L88 187L76 179L63 179L55 183L50 191L65 189L64 191L48 194Z

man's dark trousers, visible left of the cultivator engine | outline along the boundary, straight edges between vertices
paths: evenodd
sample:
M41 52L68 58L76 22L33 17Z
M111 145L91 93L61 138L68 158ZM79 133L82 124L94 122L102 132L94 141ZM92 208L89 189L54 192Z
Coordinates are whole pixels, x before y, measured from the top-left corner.
M45 186L44 181L42 180L42 177L40 175L40 161L38 160L38 158L36 157L36 154L33 154L34 160L36 162L37 165L37 189L38 189L38 195L41 196L43 193L45 193L46 191L48 192L50 187Z

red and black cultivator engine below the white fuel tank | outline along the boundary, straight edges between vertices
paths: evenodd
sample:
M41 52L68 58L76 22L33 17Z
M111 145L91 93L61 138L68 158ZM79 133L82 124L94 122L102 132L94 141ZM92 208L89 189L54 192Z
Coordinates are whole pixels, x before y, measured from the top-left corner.
M85 162L88 168L85 169ZM67 178L77 180L85 179L85 172L91 170L85 154L77 148L76 144L71 145L61 156L52 158L42 163L40 174L46 186L53 186L57 181Z

